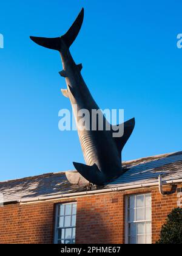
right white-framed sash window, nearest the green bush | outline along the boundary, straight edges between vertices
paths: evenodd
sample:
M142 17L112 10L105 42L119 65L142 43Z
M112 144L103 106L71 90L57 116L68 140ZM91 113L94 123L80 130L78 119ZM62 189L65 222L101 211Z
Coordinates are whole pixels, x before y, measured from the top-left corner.
M151 194L138 194L127 197L126 243L152 243Z

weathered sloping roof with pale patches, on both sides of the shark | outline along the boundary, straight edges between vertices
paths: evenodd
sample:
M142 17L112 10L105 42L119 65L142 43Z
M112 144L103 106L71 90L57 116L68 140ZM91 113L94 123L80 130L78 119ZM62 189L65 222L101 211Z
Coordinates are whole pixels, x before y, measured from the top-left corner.
M180 180L182 179L182 152L123 162L123 168L126 172L122 176L98 190L126 188L145 183L155 184L159 175L163 177L164 182ZM4 202L29 201L36 197L64 196L64 194L86 190L87 188L71 185L67 181L65 172L0 182L0 193L3 194Z

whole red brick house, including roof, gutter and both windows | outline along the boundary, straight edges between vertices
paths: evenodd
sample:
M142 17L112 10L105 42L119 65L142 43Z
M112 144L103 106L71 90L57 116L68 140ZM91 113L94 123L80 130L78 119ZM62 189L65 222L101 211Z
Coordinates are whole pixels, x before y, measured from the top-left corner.
M105 187L70 185L64 172L0 182L0 243L155 243L180 205L182 152L123 166Z

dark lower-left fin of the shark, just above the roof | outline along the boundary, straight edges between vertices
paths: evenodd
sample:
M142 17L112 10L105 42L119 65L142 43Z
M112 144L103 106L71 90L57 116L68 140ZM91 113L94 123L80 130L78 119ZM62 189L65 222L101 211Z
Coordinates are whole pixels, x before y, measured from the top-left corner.
M95 185L104 185L104 179L102 172L99 171L97 165L83 165L83 163L73 162L76 170L83 176L86 180L89 180L90 183Z

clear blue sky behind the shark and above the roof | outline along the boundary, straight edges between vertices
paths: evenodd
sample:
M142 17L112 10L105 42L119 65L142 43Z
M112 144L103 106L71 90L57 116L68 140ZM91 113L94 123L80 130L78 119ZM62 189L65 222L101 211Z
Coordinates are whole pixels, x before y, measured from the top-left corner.
M81 7L73 57L99 107L136 118L123 160L181 151L181 0L7 0L0 15L0 180L84 163L77 133L58 130L59 110L71 109L60 93L59 54L29 39L64 34Z

